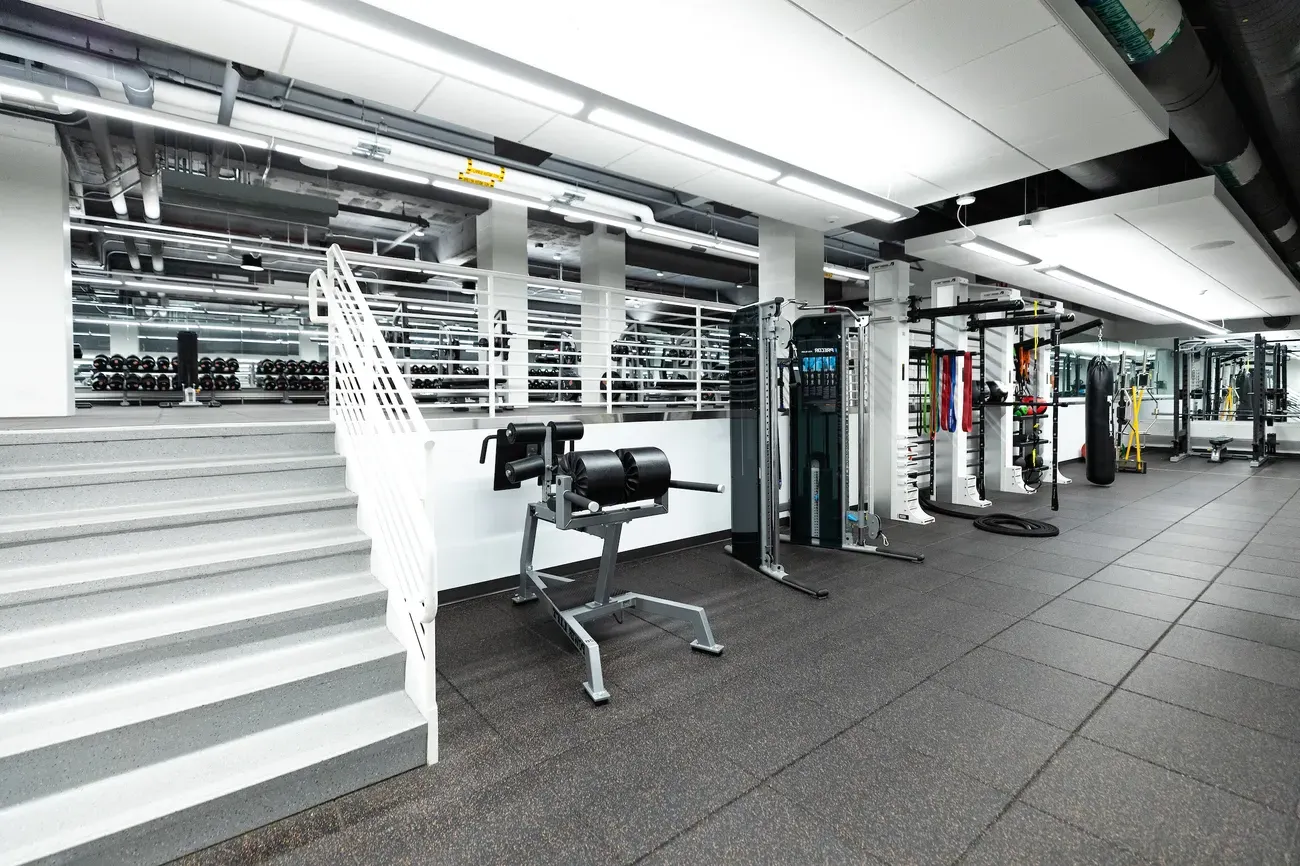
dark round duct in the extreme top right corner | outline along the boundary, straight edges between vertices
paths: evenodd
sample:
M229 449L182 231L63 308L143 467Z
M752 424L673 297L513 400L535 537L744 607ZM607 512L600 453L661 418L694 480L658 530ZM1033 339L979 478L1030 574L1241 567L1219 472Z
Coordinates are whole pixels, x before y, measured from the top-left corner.
M1265 120L1273 152L1292 194L1300 191L1300 3L1295 0L1202 0L1236 69L1252 108ZM1295 239L1292 218L1279 231Z

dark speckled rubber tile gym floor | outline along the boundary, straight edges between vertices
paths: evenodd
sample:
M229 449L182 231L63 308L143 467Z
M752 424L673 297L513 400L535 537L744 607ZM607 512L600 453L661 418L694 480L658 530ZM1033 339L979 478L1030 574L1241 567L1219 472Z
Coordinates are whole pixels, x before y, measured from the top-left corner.
M1300 462L1153 466L1018 501L1058 538L785 547L827 601L629 563L727 653L608 620L603 707L541 607L447 606L439 765L183 862L1300 863Z

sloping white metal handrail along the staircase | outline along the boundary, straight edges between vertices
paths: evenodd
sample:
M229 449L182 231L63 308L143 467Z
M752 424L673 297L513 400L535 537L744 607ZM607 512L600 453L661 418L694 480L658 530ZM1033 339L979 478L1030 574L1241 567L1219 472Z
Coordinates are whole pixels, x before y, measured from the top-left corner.
M425 625L438 609L437 549L424 479L412 472L412 460L429 459L429 425L337 246L312 274L308 296L312 321L329 325L330 419L373 540L372 570L402 597L420 651L432 661Z

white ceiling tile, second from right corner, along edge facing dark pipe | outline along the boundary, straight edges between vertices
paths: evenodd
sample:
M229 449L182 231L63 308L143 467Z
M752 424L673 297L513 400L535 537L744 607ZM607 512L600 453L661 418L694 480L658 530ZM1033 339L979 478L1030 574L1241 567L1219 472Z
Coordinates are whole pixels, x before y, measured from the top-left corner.
M1096 62L1070 31L1052 27L922 83L948 104L975 117L1096 74Z

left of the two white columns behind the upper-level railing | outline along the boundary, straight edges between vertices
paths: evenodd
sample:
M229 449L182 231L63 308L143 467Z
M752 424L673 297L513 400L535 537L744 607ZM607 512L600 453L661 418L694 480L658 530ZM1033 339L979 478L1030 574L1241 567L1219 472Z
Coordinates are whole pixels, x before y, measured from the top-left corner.
M506 377L506 402L523 406L528 402L528 208L519 204L493 202L486 213L478 215L478 267L485 270L503 270L521 274L519 280L494 277L490 295L488 286L480 285L478 333L488 338L488 348L480 348L484 360L480 369L494 378ZM489 309L490 307L490 309ZM504 311L503 313L498 311ZM497 319L494 319L494 315ZM506 328L515 334L510 339L510 358L494 358L495 333L499 316L504 315ZM488 363L488 361L493 363ZM502 397L498 394L498 402Z

